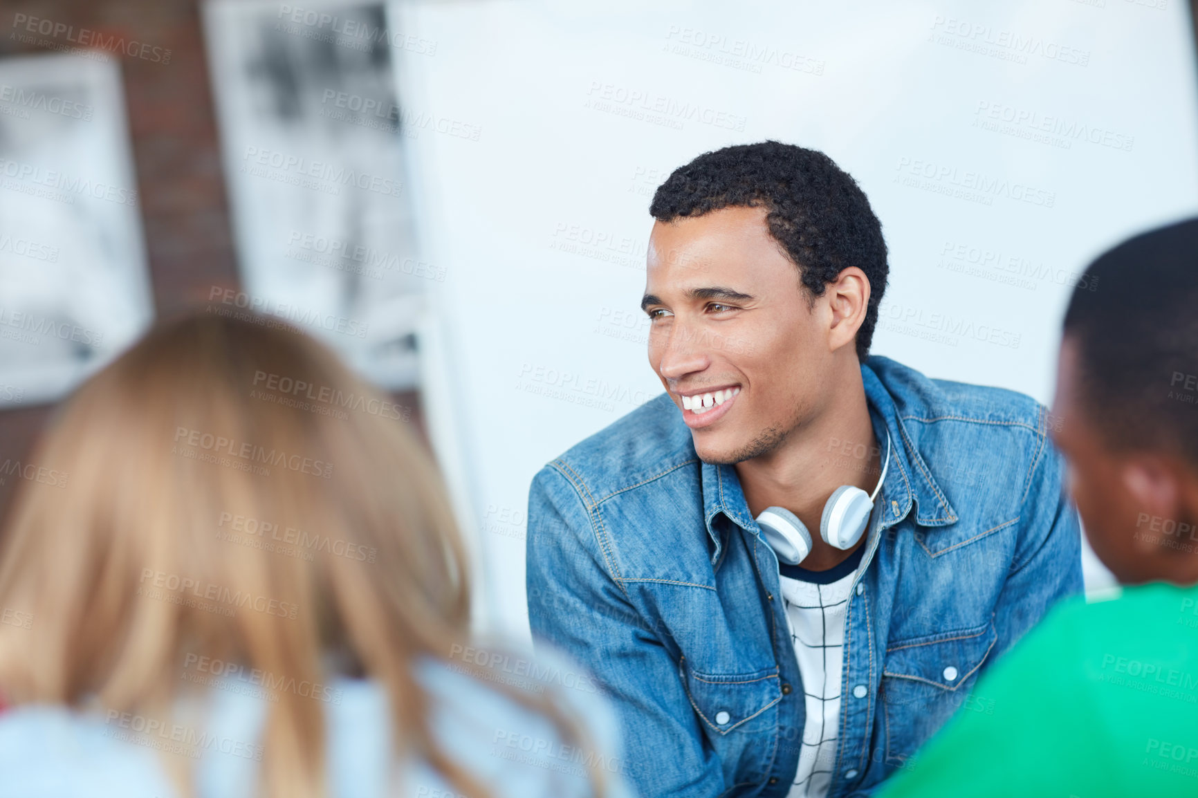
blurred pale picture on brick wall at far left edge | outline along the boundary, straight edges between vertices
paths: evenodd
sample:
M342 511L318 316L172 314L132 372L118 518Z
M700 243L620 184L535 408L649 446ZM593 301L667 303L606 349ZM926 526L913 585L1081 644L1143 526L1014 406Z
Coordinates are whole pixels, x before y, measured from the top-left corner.
M0 60L0 407L58 399L152 318L116 60Z

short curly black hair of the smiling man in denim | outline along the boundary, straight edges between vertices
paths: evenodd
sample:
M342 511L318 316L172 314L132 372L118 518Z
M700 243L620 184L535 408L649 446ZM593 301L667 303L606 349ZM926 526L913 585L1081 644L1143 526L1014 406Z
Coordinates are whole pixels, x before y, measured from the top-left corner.
M849 266L870 280L870 303L857 331L857 356L869 357L878 304L887 290L882 223L853 177L817 150L781 141L704 152L673 170L653 194L659 222L724 207L764 207L770 236L799 270L812 300Z

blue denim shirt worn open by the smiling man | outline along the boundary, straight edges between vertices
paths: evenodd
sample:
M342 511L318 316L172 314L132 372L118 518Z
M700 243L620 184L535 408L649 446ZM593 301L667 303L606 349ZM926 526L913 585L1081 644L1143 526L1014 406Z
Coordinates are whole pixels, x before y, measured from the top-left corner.
M1082 588L1043 406L878 356L861 379L894 451L845 621L829 798L871 794L960 707L985 712L979 672ZM642 796L786 796L805 708L778 558L668 395L537 474L527 556L533 635L609 693Z

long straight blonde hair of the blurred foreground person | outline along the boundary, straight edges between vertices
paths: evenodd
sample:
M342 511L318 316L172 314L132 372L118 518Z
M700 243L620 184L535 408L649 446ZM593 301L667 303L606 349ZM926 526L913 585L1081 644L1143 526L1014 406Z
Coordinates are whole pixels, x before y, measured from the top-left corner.
M34 617L0 624L8 701L169 718L200 657L320 685L340 654L386 687L397 754L485 794L432 738L413 671L467 639L470 601L436 467L398 417L279 321L194 313L151 331L36 447L66 489L31 480L13 500L0 606ZM322 703L302 693L267 705L273 798L325 794ZM545 697L504 693L582 734ZM186 767L168 770L189 791Z

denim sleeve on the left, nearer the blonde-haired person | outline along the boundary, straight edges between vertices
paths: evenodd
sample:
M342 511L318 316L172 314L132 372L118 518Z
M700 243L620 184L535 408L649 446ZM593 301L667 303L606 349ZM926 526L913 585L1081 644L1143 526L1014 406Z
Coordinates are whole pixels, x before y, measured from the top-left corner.
M552 466L528 496L528 619L536 643L564 651L594 673L616 709L625 775L643 798L713 798L724 773L664 645L616 581L617 552L575 483Z

